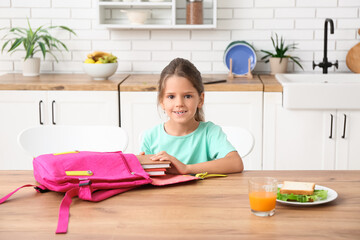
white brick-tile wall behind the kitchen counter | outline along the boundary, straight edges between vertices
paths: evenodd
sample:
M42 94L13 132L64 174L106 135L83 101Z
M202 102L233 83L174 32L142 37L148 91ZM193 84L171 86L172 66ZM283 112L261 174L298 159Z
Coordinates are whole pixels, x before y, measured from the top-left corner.
M185 0L178 0L177 5L184 7ZM284 36L287 43L298 43L292 54L301 58L305 71L312 72L312 61L322 61L327 17L335 26L335 34L328 35L329 60L339 61L336 71L348 72L346 54L360 40L359 0L218 0L217 15L218 27L213 30L106 29L98 24L97 0L0 0L0 29L25 26L28 17L34 28L66 25L76 31L77 36L54 32L70 51L55 52L58 63L48 55L41 63L42 72L82 72L86 55L104 50L118 56L118 72L158 73L171 59L183 57L204 73L226 73L223 52L230 42L248 41L260 59L261 49L272 50L270 36L274 33ZM4 33L0 31L0 39ZM3 43L0 40L1 46ZM24 54L4 52L0 72L21 72ZM269 70L268 64L258 61L256 72ZM293 63L288 70L302 71Z

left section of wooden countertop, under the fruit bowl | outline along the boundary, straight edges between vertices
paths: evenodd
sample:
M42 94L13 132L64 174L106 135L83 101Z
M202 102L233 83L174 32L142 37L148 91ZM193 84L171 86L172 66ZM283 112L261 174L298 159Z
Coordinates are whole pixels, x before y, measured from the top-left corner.
M0 76L0 90L70 90L117 91L128 74L115 74L105 81L92 80L86 74L40 74L24 77L22 74Z

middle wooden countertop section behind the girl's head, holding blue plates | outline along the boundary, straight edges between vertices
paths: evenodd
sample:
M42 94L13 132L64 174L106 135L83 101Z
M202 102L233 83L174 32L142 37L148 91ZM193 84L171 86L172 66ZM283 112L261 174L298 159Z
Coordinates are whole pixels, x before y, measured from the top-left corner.
M120 91L157 91L160 75L134 74L130 75L120 85ZM204 74L204 80L223 80L224 83L205 84L205 91L263 91L263 84L257 75L253 79L234 78L228 79L226 74Z

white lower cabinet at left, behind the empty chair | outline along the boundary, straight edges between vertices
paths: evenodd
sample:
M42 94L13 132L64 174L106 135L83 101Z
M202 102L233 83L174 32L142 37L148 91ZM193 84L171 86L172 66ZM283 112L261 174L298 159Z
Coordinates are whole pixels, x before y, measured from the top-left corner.
M116 91L0 91L0 169L32 169L18 134L46 124L119 125Z

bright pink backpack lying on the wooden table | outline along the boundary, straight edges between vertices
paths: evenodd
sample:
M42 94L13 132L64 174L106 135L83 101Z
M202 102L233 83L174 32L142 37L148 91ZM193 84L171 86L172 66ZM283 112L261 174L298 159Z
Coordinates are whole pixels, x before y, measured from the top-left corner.
M122 152L44 154L34 158L33 166L40 185L24 185L1 198L0 204L23 187L33 186L38 192L65 192L56 233L67 232L73 197L98 202L152 182L136 156Z

